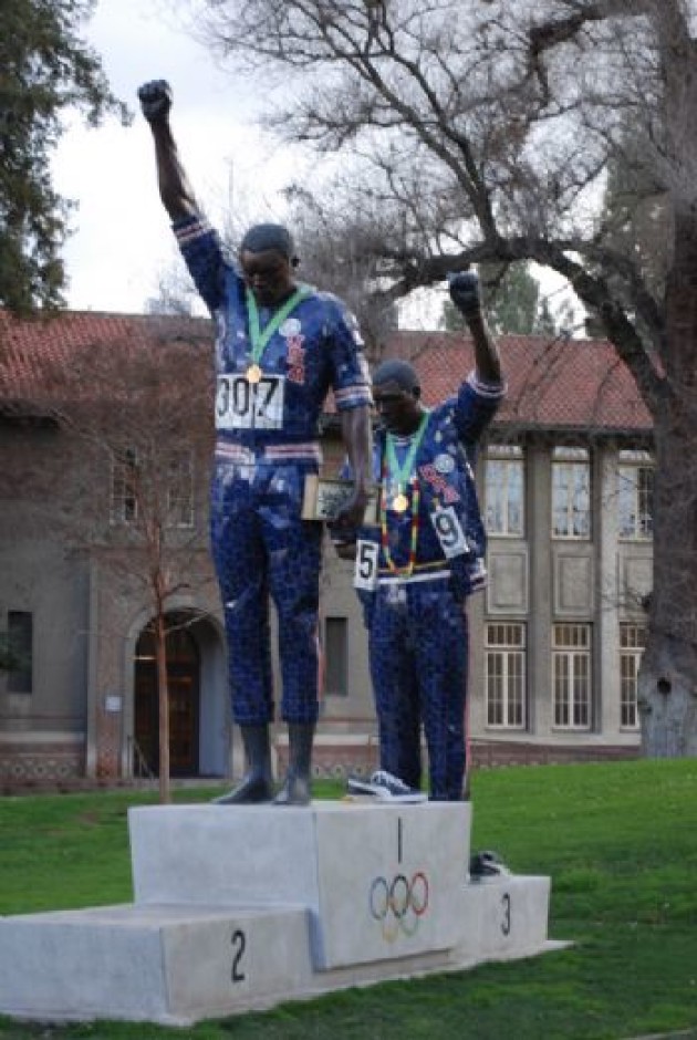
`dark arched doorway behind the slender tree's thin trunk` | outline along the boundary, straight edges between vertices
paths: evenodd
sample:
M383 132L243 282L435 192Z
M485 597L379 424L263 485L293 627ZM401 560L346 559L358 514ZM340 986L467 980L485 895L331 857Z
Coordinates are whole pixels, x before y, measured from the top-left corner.
M169 771L173 777L199 772L200 655L185 618L167 618L167 685L169 693ZM134 772L158 776L159 724L155 636L141 633L135 653Z

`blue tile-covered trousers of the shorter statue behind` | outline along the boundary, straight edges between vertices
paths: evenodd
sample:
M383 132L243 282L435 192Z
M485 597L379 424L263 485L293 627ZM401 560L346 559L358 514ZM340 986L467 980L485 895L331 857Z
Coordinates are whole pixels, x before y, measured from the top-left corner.
M468 628L448 581L379 584L368 611L381 767L417 788L420 728L430 798L459 801L466 769Z

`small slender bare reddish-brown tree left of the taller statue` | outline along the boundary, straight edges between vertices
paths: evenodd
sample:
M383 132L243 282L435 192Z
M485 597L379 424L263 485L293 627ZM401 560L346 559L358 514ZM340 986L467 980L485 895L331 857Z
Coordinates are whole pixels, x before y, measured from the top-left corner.
M23 453L12 454L0 479L0 498L21 481L27 528L98 559L114 600L149 611L162 802L170 800L167 636L183 623L171 604L183 593L215 590L202 522L210 344L191 336L193 324L150 319L145 336L75 347L67 364L44 358L35 404L58 425L60 446L37 453L23 438Z

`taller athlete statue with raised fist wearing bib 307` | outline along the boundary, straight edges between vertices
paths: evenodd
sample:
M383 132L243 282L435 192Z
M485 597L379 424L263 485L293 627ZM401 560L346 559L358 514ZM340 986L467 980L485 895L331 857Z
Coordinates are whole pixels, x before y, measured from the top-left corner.
M318 472L318 422L333 388L355 475L339 524L357 524L367 502L367 365L343 303L294 279L290 233L263 223L245 235L239 267L201 214L169 124L164 80L138 91L155 143L159 195L198 292L216 324L217 440L211 492L212 558L228 641L232 716L248 761L242 782L216 801L303 805L319 710L318 610L322 528L301 519L303 482ZM272 786L273 718L269 595L279 620L282 718L289 769Z

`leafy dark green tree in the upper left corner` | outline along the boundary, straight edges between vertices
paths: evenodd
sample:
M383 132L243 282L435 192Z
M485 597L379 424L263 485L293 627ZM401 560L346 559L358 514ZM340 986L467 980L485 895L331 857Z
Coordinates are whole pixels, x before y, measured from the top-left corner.
M62 114L77 108L92 126L110 112L128 118L80 38L93 9L94 0L0 4L0 303L17 313L63 303L70 204L49 167Z

